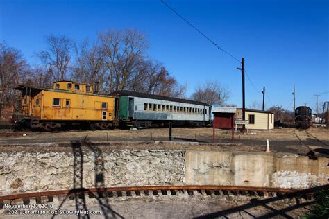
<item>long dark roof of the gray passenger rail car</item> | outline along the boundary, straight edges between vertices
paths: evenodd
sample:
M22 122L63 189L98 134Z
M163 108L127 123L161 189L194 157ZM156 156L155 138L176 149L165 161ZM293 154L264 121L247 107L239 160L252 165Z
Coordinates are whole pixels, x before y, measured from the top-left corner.
M204 105L204 106L210 106L207 103L202 103L195 100L186 100L186 99L180 99L180 98L174 98L170 96L160 96L155 94L145 94L140 93L137 91L114 91L110 95L119 95L119 96L135 96L140 98L149 98L149 99L156 99L156 100L167 100L172 102L178 102L178 103L189 103L189 104L195 104L195 105Z

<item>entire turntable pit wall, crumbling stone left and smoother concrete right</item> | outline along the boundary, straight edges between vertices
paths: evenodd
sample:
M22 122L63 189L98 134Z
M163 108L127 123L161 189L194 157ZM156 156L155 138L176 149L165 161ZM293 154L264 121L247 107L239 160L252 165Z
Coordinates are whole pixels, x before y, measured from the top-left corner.
M329 177L329 159L321 157L310 160L291 154L208 150L102 150L72 152L55 147L39 152L0 152L0 195L73 189L80 185L80 179L85 188L212 184L304 189L327 184ZM81 170L83 177L79 177Z

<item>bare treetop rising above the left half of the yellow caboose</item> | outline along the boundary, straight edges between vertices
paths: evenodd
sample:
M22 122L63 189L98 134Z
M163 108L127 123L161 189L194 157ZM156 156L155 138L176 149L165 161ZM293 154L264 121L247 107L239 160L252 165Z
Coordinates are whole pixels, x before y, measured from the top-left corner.
M48 49L37 53L45 67L52 74L52 80L66 80L71 60L72 42L65 35L49 35Z

